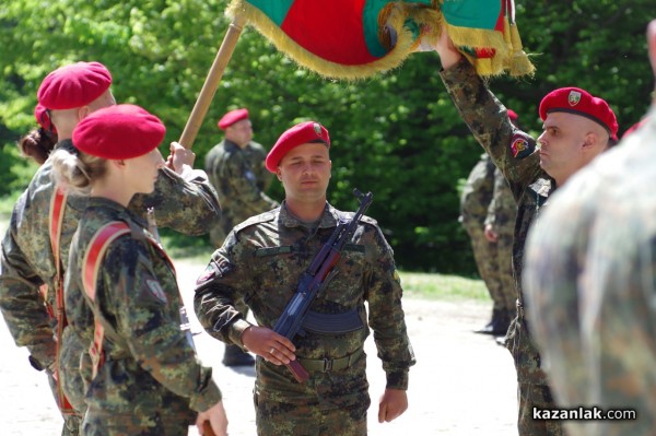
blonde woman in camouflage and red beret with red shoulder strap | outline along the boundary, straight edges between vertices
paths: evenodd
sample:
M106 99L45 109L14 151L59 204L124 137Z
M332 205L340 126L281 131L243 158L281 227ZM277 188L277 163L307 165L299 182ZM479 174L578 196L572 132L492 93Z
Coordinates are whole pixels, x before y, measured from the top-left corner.
M128 210L136 193L154 190L165 131L138 106L110 106L75 127L79 153L58 149L50 158L60 186L92 196L71 243L66 280L66 293L83 294L93 310L90 316L85 304L68 307L75 330L98 356L84 435L186 436L197 417L199 426L211 419L215 433L226 435L221 392L196 356L188 319L180 317L173 263L142 216ZM109 224L124 233L98 240ZM95 326L89 322L94 316Z

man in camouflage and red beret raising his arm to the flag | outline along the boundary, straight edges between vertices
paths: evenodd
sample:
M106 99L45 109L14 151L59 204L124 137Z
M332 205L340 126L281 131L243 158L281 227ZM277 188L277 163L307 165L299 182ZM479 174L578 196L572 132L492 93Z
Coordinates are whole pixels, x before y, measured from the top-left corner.
M529 226L557 186L607 150L617 140L617 120L608 104L579 89L560 89L540 104L543 132L536 141L515 128L506 108L487 89L446 30L436 45L441 76L469 129L503 172L517 203L513 269L517 288L517 317L508 329L517 369L518 431L525 435L562 435L558 421L534 420L534 409L553 409L551 390L540 353L528 329L522 293L524 243Z

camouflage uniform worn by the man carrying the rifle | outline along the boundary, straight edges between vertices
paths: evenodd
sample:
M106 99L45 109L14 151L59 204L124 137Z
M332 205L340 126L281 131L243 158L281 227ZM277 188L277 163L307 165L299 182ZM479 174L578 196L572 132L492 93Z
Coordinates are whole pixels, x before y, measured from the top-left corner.
M294 217L284 204L237 225L198 279L198 319L212 337L225 343L243 346L241 335L249 326L235 309L236 301L248 304L259 326L276 325L301 274L330 237L339 217L345 215L327 204L321 219L308 224ZM336 268L338 274L318 295L312 310L340 314L356 308L364 327L344 334L306 332L294 338L296 355L323 360L360 352L371 327L387 388L407 389L414 354L406 330L402 288L391 248L374 220L363 217ZM285 366L258 356L255 396L258 423L262 424L259 434L313 435L317 415L324 416L320 423L345 425L337 421L342 421L347 410L350 423L361 428L370 405L365 369L363 353L349 368L312 372L308 382L298 384Z

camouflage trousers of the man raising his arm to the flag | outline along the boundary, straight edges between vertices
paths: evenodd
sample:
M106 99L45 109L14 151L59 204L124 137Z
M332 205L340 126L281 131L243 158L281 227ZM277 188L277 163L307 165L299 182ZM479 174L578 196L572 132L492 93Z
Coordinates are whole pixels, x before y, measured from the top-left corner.
M530 337L522 313L519 310L519 315L511 323L506 340L506 346L513 355L517 370L518 434L519 436L563 436L565 433L561 421L534 419L534 409L552 410L558 405L551 394L547 374L541 368L540 353Z

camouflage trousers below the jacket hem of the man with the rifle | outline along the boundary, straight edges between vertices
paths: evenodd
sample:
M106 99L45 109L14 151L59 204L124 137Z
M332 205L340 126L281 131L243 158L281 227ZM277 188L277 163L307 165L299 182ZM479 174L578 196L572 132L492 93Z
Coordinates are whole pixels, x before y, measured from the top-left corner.
M260 400L254 396L258 436L364 436L366 411L325 410L313 404Z

